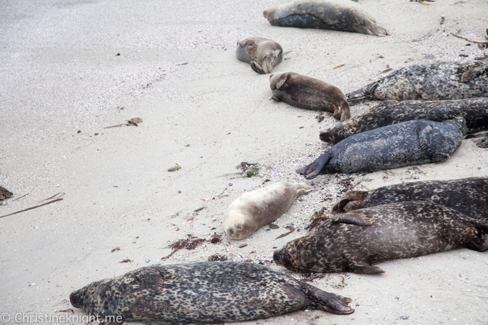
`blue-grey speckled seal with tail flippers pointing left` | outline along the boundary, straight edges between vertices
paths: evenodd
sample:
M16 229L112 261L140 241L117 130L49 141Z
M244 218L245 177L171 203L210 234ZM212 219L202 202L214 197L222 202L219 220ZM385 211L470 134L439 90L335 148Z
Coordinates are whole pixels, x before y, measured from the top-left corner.
M465 134L464 119L413 120L349 136L297 169L307 180L321 174L360 173L449 159Z

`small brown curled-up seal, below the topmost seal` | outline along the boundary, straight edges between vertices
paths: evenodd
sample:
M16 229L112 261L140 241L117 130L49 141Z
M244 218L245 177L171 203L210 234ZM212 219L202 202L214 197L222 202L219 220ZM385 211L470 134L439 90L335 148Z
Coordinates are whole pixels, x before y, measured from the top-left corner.
M268 74L282 61L283 49L268 38L246 38L237 42L236 56L239 61L250 63L255 72Z

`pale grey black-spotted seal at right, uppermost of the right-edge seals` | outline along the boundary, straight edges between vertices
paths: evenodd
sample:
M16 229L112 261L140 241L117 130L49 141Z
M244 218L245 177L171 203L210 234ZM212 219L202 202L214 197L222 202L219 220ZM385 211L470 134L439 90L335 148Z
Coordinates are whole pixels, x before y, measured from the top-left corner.
M488 62L453 61L410 65L346 95L349 102L462 100L488 97Z

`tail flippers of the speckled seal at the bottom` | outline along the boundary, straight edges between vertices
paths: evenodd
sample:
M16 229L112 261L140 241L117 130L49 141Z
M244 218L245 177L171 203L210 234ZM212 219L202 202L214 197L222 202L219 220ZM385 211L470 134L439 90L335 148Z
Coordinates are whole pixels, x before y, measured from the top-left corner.
M300 283L300 285L300 290L303 294L313 301L309 306L310 309L319 309L338 315L349 315L354 312L354 309L349 306L349 303L352 302L351 298L325 292L307 283Z

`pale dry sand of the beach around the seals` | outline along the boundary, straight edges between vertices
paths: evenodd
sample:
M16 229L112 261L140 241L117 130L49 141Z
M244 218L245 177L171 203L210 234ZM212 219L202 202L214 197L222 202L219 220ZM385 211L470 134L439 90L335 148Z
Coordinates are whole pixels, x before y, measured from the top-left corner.
M387 68L483 55L450 33L484 40L486 0L360 0L390 30L386 38L271 26L262 11L286 2L0 1L0 185L13 199L28 194L8 200L0 215L64 193L0 219L0 314L10 315L8 324L17 313L64 315L57 311L71 308L73 290L137 267L214 253L270 264L274 247L305 233L275 240L285 223L303 228L340 197L346 176L319 176L277 230L264 227L244 241L224 235L161 260L188 234L222 234L222 215L243 191L267 179L303 180L294 170L323 152L319 132L337 123L270 100L268 76L236 60L237 40L271 38L288 52L274 72L306 74L344 93ZM104 129L134 117L144 122ZM227 175L241 161L259 163L260 176ZM174 164L182 168L167 172ZM419 167L351 182L374 189L486 176L488 150L466 140L445 163ZM243 324L488 324L487 265L487 253L461 249L382 263L382 275L330 274L312 284L351 297L353 314L310 310Z

